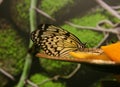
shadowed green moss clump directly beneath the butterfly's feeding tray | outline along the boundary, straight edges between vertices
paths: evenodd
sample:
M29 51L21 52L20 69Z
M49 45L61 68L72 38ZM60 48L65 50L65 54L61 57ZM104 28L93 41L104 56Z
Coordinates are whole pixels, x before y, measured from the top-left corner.
M76 63L41 59L41 66L51 75L68 75L76 67Z

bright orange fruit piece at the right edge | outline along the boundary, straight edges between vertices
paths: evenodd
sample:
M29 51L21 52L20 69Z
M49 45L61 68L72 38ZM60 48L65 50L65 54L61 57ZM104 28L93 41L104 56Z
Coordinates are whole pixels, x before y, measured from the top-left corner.
M120 42L102 46L101 49L109 56L113 61L120 62Z

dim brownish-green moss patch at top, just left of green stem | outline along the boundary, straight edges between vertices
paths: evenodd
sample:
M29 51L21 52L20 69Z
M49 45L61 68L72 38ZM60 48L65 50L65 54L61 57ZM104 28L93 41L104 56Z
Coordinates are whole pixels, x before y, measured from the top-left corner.
M16 0L10 3L11 18L24 32L29 32L30 0Z

